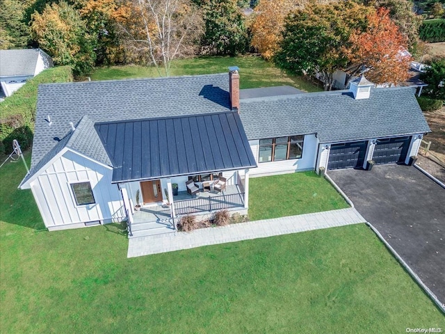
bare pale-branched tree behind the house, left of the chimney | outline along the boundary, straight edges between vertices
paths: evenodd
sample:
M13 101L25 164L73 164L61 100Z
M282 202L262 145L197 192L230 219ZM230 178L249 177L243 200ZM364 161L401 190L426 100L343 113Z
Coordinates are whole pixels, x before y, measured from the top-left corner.
M166 76L173 59L195 54L202 33L202 17L189 0L132 0L118 23L127 56Z

